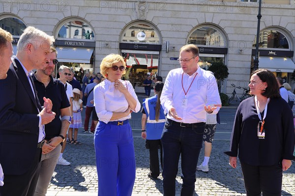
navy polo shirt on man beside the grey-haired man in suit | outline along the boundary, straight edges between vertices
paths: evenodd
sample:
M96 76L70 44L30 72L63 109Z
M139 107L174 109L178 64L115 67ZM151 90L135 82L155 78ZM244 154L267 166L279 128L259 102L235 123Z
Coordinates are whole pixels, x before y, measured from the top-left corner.
M51 123L45 124L45 140L57 137L60 134L61 121L60 121L60 109L70 106L70 102L66 96L64 85L58 79L54 79L50 75L50 82L45 88L42 82L39 82L35 74L32 75L34 84L37 90L37 96L41 105L44 105L43 97L50 98L52 101L52 111L56 113L54 120Z

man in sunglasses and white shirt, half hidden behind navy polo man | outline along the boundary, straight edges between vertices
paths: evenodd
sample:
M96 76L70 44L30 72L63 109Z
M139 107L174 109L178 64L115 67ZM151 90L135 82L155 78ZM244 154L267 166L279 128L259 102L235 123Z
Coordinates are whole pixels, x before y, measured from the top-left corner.
M71 75L71 69L69 67L66 67L64 65L61 65L59 67L59 80L64 84L64 88L65 88L65 92L67 95L67 98L69 99L70 102L70 114L71 117L73 118L73 101L72 101L72 97L73 97L73 87L72 85L70 85L67 80L69 79L69 76ZM67 138L67 135L65 136L65 138ZM66 141L63 141L62 143L62 148L61 148L61 152L59 155L59 160L58 160L58 165L64 165L64 166L68 166L71 165L70 162L68 162L67 160L65 160L62 157L63 151L65 149L66 146Z

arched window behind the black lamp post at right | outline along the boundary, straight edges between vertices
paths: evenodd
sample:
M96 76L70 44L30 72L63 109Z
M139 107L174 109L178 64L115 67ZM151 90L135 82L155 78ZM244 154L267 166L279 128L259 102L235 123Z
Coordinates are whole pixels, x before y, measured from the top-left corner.
M256 36L253 47L256 47ZM259 34L259 48L289 49L289 43L283 33L275 29L265 29Z

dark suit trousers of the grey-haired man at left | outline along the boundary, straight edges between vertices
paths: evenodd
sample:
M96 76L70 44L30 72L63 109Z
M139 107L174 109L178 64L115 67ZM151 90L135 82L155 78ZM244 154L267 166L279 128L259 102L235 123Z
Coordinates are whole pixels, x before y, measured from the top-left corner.
M29 170L21 175L7 175L4 173L4 185L0 186L2 196L33 196L38 182L41 166L42 148L37 148L35 158L31 161Z

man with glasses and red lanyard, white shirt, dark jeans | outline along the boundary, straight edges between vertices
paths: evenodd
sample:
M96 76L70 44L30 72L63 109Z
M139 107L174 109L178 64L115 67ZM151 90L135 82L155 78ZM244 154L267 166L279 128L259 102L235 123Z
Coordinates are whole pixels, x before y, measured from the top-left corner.
M181 154L181 196L193 196L206 114L216 114L221 100L215 77L198 65L199 49L195 45L183 46L178 61L181 68L168 73L160 98L167 112L161 138L163 189L164 195L175 195Z

